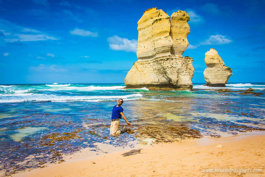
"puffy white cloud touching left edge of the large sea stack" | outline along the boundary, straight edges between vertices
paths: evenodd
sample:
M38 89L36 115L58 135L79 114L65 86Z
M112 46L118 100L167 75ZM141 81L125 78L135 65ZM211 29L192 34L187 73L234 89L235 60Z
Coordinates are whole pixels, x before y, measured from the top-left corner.
M138 41L136 39L129 40L118 36L108 38L109 49L116 51L136 52Z

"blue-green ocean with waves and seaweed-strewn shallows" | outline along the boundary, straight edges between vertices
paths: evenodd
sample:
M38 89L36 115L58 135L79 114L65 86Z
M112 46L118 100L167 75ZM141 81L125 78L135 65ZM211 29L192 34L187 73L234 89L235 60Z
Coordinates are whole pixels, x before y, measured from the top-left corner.
M265 83L204 84L193 83L195 91L123 89L117 83L0 85L0 171L61 163L84 148L99 151L97 143L122 149L265 130ZM243 94L250 87L254 93ZM113 137L111 113L120 98L133 127Z

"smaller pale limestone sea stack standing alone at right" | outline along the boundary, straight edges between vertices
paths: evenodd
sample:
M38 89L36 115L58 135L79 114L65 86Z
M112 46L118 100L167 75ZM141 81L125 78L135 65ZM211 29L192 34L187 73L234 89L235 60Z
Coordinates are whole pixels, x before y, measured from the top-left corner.
M232 69L224 65L223 59L214 48L205 53L204 61L207 67L203 72L206 85L225 87L229 77L232 76Z

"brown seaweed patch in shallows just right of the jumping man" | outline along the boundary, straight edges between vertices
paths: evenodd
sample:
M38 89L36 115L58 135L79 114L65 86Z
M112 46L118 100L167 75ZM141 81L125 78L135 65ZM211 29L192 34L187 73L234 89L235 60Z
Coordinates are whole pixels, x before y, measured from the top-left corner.
M139 138L152 138L155 139L156 143L169 143L173 141L178 141L177 139L186 138L202 138L199 130L193 130L188 127L153 127L153 126L143 126L138 127L136 132L138 132ZM137 135L137 136L138 136Z

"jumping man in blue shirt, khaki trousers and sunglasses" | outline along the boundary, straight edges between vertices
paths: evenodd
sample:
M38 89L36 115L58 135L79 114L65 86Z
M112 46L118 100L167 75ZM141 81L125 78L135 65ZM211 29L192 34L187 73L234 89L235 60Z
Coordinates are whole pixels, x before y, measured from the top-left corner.
M127 127L123 127L121 130L118 130L121 117L125 120L125 122L128 124L129 127L132 126L132 124L127 121L126 117L123 114L123 108L121 107L122 103L123 103L123 99L119 99L117 102L117 105L115 105L112 109L112 115L111 115L111 135L112 136L123 134L125 132L128 133L128 131L130 131L130 129L128 129Z

